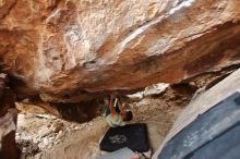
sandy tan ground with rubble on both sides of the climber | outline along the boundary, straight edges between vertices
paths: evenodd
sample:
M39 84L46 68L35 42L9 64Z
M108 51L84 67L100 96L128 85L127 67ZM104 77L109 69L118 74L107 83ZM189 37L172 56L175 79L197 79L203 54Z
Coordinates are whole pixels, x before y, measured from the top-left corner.
M147 124L153 151L160 145L191 97L192 91L185 88L167 88L155 97L128 101L125 107L134 115L131 123ZM34 113L23 111L17 122L16 140L23 151L23 159L94 159L106 154L98 148L100 138L108 130L103 115L79 124L51 117L35 106L31 106L31 109Z

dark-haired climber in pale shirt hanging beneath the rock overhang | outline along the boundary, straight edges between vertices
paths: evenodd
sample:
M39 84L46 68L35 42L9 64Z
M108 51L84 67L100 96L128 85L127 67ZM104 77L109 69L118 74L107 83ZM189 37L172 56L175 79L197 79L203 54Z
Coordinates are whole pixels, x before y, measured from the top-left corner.
M111 127L123 126L124 122L132 120L132 112L123 109L121 97L111 94L105 118Z

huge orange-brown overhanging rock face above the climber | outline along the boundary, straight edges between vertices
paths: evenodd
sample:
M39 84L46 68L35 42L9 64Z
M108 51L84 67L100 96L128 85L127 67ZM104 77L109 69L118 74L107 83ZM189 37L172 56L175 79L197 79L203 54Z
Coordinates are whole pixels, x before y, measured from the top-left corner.
M133 90L240 62L239 0L1 0L17 94ZM16 83L17 82L17 83Z

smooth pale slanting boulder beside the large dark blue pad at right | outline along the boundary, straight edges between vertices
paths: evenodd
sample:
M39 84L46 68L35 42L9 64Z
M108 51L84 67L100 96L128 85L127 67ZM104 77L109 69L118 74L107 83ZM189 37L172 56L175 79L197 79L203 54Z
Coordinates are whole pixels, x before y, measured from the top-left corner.
M205 93L196 96L195 98L193 98L191 100L191 102L187 106L187 108L178 117L177 121L175 122L173 126L169 131L168 135L166 136L166 138L164 139L164 142L160 144L159 148L157 149L157 151L153 156L153 159L158 158L158 155L163 150L164 145L168 140L170 140L172 137L176 137L176 135L179 134L183 129L185 129L187 126L192 124L194 121L199 120L199 118L203 117L203 114L205 112L213 109L216 105L220 103L223 100L225 100L227 97L233 95L235 93L238 93L238 94L240 93L240 69L238 69L237 71L231 73L229 76L227 76L226 78L224 78L223 81L217 83L215 86L213 86L212 88L209 88ZM235 99L235 101L237 103L237 99ZM231 109L229 109L229 110L231 110ZM232 110L235 110L235 109L232 109ZM235 111L237 112L237 110L235 110ZM228 114L228 113L226 113L226 114ZM231 114L231 113L229 113L229 114ZM209 120L209 121L214 121L214 120ZM231 123L230 121L231 121L231 118L229 118L227 120L226 125L229 125ZM225 123L225 122L223 122L223 123ZM218 126L214 127L215 132L217 132L219 127L221 127L220 124ZM207 131L209 131L212 129L213 127L208 127ZM199 138L201 138L201 137L199 137ZM214 135L212 135L212 137L209 137L209 138L214 139ZM204 139L202 139L202 140L204 140ZM195 143L195 142L193 142L193 143ZM217 150L217 149L215 149L215 150Z

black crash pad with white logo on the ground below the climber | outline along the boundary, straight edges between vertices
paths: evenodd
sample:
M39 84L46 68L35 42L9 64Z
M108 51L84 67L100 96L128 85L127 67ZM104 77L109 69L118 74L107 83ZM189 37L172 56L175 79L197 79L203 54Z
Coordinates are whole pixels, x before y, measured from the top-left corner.
M149 148L146 124L128 124L110 127L100 142L100 150L115 151L128 147L133 151L144 152Z

